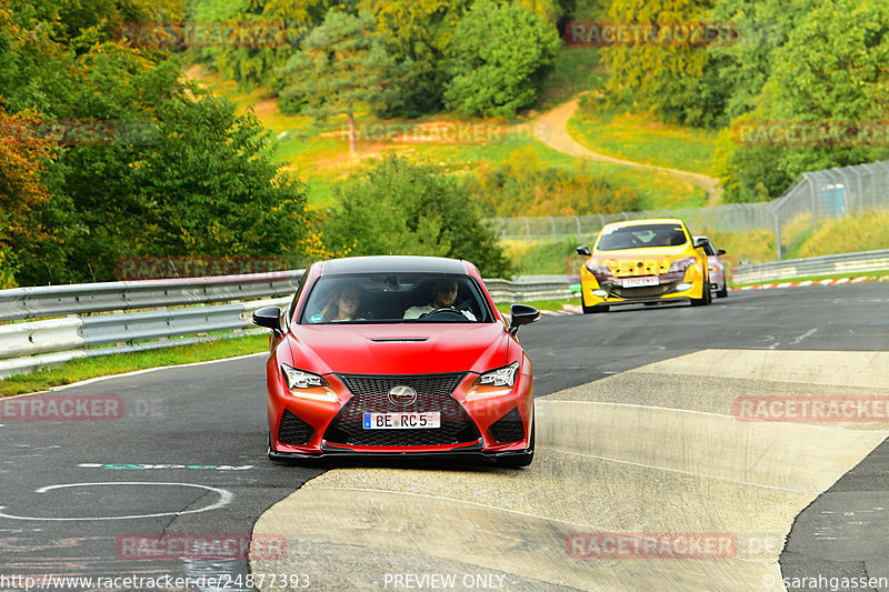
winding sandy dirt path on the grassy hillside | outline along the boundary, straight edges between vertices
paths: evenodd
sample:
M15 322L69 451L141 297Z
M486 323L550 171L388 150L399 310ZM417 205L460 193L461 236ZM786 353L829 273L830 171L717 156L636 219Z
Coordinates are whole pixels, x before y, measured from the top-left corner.
M570 154L572 157L586 158L590 160L598 160L601 162L611 162L613 164L626 164L628 167L638 167L642 169L650 169L652 171L666 172L678 179L682 179L703 188L707 191L707 205L716 205L719 203L722 195L722 190L719 188L719 179L707 177L706 174L680 171L679 169L670 169L668 167L658 167L656 164L646 164L643 162L635 162L632 160L623 160L607 154L600 154L576 142L568 133L568 120L575 113L578 106L578 98L560 104L552 111L540 116L536 120L533 127L537 139L559 152Z

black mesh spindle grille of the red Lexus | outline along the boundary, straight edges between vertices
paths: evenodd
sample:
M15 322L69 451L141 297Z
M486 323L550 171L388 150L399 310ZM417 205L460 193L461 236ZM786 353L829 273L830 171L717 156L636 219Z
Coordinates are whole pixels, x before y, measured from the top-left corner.
M324 440L330 443L361 446L423 446L462 444L480 438L476 423L451 393L466 373L413 375L338 374L353 397L331 422ZM410 387L417 400L409 405L389 401L393 387ZM366 430L364 413L438 411L441 427L423 430Z

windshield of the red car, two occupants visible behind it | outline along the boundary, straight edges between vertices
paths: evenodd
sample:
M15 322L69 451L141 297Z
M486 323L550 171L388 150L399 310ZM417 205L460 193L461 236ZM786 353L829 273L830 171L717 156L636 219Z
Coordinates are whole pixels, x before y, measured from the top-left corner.
M468 275L361 274L319 278L300 324L493 322Z

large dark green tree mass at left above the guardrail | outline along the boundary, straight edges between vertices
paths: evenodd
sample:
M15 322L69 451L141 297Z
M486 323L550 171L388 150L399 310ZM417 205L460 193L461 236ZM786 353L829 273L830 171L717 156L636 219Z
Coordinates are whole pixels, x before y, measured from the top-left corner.
M11 18L0 11L0 63L11 64L0 72L9 93L0 104L10 117L107 133L53 148L37 175L48 199L8 198L30 204L13 218L34 232L14 249L19 283L109 280L127 255L301 252L303 187L279 173L253 116L186 81L166 52L113 41L79 52L74 40L53 40L54 14L41 0ZM31 159L17 150L6 151L10 165ZM33 160L37 170L46 159ZM40 240L38 228L51 229L53 241Z

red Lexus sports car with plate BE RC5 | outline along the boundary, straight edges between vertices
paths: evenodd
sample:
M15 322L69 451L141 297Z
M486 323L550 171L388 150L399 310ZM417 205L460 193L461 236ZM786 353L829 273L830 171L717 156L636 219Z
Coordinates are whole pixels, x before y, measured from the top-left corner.
M459 454L533 459L531 361L472 263L360 257L313 264L272 330L269 456Z

